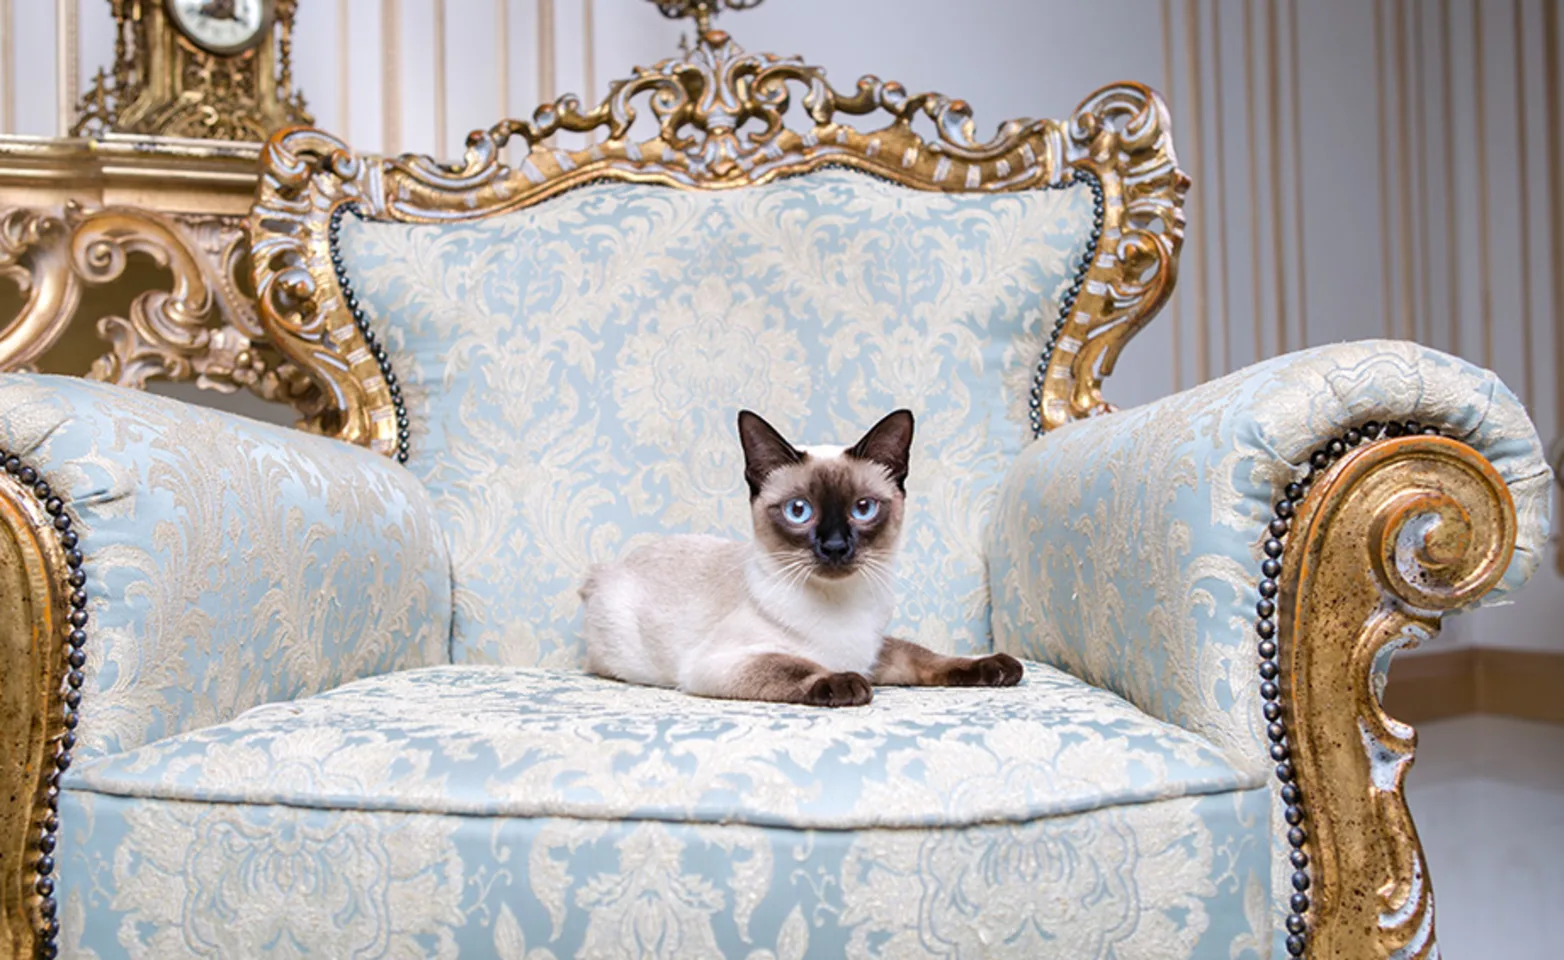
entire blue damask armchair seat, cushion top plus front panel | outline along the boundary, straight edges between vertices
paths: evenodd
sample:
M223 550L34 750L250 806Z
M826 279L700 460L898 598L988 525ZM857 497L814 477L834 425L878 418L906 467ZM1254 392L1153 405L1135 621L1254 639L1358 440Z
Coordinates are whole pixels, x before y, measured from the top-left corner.
M1037 664L835 711L439 666L72 769L64 929L99 957L1226 957L1262 937L1232 924L1265 921L1267 797Z

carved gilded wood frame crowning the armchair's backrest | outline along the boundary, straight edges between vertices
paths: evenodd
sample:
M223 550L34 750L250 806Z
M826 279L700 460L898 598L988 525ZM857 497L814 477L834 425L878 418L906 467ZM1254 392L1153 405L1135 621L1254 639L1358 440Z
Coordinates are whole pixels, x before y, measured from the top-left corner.
M795 95L809 125L785 119ZM640 109L655 133L635 139ZM848 117L877 117L879 127ZM929 134L920 127L932 127ZM580 150L551 147L560 131L596 131ZM505 163L521 141L526 155ZM261 155L250 214L261 325L327 394L321 428L389 453L391 399L353 328L328 255L332 210L404 222L494 216L593 180L682 189L730 189L821 166L845 166L929 191L1020 191L1095 172L1106 191L1103 252L1056 347L1043 388L1043 424L1107 410L1103 377L1173 289L1189 178L1178 169L1168 113L1148 88L1125 83L1059 120L1010 120L981 141L963 100L909 94L874 77L849 92L798 58L752 55L707 30L688 58L616 80L591 108L561 97L532 120L504 120L468 138L463 158L358 156L319 130L275 134ZM1038 317L1042 322L1042 317Z

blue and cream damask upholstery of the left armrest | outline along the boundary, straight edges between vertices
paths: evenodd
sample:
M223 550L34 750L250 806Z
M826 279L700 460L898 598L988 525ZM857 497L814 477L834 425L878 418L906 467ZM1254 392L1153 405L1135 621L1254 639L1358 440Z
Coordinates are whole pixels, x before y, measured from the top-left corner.
M382 457L30 374L0 375L0 446L69 496L81 533L78 760L449 660L444 539Z

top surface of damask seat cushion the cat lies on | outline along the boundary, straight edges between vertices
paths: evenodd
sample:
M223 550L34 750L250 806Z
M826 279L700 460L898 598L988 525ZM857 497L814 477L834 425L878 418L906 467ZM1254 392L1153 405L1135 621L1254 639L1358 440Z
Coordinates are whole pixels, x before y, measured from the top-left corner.
M1045 666L1004 693L885 688L856 710L427 668L258 707L69 780L221 804L823 829L1032 819L1264 783Z

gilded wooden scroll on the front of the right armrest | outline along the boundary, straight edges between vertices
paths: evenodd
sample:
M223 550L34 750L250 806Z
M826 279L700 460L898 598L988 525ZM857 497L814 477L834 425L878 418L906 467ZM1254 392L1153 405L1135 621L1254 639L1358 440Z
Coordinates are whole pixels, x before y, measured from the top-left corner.
M1514 547L1503 478L1439 436L1353 450L1293 521L1279 629L1315 876L1311 957L1437 955L1433 885L1404 796L1417 733L1381 708L1373 666L1476 604Z

